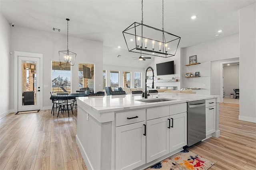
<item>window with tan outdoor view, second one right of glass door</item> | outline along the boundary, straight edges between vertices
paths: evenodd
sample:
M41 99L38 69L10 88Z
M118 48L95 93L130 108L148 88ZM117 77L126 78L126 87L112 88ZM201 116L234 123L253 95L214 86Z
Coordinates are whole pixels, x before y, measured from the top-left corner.
M79 89L94 91L94 64L78 64Z

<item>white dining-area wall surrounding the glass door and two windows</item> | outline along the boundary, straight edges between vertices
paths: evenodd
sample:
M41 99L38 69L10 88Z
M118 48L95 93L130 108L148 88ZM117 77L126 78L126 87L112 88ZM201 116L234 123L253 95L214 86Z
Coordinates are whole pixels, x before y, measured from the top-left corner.
M25 27L15 26L11 28L11 50L24 51L31 53L43 54L43 84L48 85L48 88L42 87L43 106L41 109L49 109L52 104L50 101L51 91L51 60L59 61L58 51L66 50L67 39L66 35L59 33L39 31L35 29L28 29ZM78 90L78 63L92 63L95 64L95 91L102 91L102 68L103 68L103 43L97 41L89 41L76 37L68 37L68 47L70 51L75 52L76 63L71 67L72 71L72 92ZM14 82L14 56L11 57L12 71L10 76L11 82ZM11 83L11 89L14 84ZM11 100L14 100L13 90L11 90ZM11 108L14 108L11 102Z

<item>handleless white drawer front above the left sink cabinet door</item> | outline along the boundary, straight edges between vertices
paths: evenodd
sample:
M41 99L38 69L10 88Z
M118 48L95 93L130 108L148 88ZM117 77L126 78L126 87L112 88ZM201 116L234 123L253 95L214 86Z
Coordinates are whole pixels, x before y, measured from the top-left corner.
M156 119L159 117L168 116L170 113L170 106L162 106L147 109L147 120Z

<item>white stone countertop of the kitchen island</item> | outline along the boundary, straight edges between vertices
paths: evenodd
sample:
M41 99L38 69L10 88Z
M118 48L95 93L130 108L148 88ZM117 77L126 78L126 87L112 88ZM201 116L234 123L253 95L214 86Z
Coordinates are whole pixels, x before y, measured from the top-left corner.
M186 93L151 93L148 99L166 98L175 99L166 102L146 103L136 100L144 99L142 94L126 94L115 96L93 96L76 98L82 105L90 107L98 113L125 111L129 109L143 109L147 107L166 106L172 104L181 104L196 100L207 100L217 98L216 102L220 102L220 96L203 95L203 94L186 94ZM81 106L82 107L82 106Z

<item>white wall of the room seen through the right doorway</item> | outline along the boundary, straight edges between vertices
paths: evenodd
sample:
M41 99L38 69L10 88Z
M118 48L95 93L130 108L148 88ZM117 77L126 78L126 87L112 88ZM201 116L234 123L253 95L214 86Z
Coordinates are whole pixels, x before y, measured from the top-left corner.
M224 66L223 76L225 97L235 96L234 88L239 88L239 65Z

